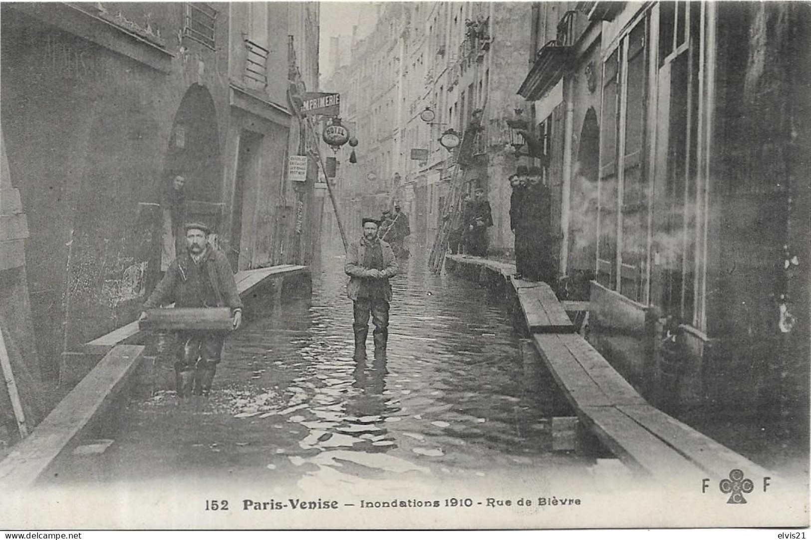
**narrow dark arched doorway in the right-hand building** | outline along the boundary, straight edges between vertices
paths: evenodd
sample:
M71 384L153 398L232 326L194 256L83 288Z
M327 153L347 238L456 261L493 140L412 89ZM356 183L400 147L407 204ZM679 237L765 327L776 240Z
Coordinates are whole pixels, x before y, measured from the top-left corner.
M594 107L586 110L580 131L577 162L572 175L569 264L574 281L588 283L594 272L597 233L597 179L600 157L600 127Z

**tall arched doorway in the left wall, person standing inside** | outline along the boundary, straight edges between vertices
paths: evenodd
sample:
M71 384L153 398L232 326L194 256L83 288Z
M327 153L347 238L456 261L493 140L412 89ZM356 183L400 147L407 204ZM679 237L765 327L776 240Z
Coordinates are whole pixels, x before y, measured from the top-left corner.
M221 225L217 110L211 93L200 84L191 85L174 116L160 180L161 270L165 270L183 248L183 222L202 221L215 231Z

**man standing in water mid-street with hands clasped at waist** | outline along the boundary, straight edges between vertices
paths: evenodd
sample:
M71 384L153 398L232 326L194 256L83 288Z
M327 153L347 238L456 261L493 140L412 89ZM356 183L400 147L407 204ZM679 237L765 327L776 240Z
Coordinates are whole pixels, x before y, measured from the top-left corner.
M377 236L378 222L363 218L363 236L351 242L346 251L345 272L350 276L346 296L354 304L354 358L366 357L369 315L375 325L375 356L382 356L388 341L388 303L392 286L388 279L397 274L397 260L392 247Z

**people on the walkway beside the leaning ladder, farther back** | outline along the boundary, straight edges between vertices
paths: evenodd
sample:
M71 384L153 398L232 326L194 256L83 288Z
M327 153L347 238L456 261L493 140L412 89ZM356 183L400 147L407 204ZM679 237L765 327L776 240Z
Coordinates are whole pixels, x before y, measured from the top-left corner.
M444 219L453 220L448 235L451 253L468 253L475 257L487 257L487 227L493 224L490 202L484 197L483 188L475 188L473 199L465 193L457 212L445 214Z

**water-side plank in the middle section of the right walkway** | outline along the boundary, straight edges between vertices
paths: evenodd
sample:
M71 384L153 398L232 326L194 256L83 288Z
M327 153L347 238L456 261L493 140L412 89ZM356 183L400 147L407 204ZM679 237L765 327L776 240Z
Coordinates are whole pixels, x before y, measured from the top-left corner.
M574 408L579 410L586 406L611 404L569 349L560 342L559 336L536 334L533 335L533 340L544 364Z

